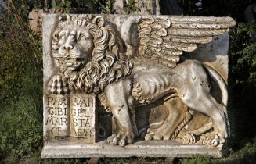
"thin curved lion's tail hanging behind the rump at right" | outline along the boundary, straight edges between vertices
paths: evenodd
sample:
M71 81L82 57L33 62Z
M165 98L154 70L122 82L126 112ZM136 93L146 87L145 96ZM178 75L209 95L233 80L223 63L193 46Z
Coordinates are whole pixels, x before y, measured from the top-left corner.
M222 91L222 105L224 105L222 110L225 114L225 119L226 119L227 128L228 128L228 135L230 136L230 123L229 123L228 112L227 112L227 105L228 105L227 85L225 84L225 80L223 80L222 76L219 73L217 73L216 70L212 69L211 66L207 66L205 64L204 66L210 73L211 77L213 77L218 82L218 87Z

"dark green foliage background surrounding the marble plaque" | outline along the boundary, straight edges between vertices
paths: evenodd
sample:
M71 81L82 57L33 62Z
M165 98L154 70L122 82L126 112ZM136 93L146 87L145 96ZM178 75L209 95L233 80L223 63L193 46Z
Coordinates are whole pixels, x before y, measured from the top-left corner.
M86 13L114 13L114 0L8 0L0 13L0 163L81 163L85 159L41 159L42 47L41 37L28 27L31 9L82 9ZM128 1L124 11L136 9ZM229 118L231 153L225 159L196 157L181 163L256 163L256 43L250 38L256 22L244 23L243 12L252 0L177 0L184 15L232 16L229 50ZM111 163L113 159L103 159ZM116 162L163 162L163 159L115 159Z

